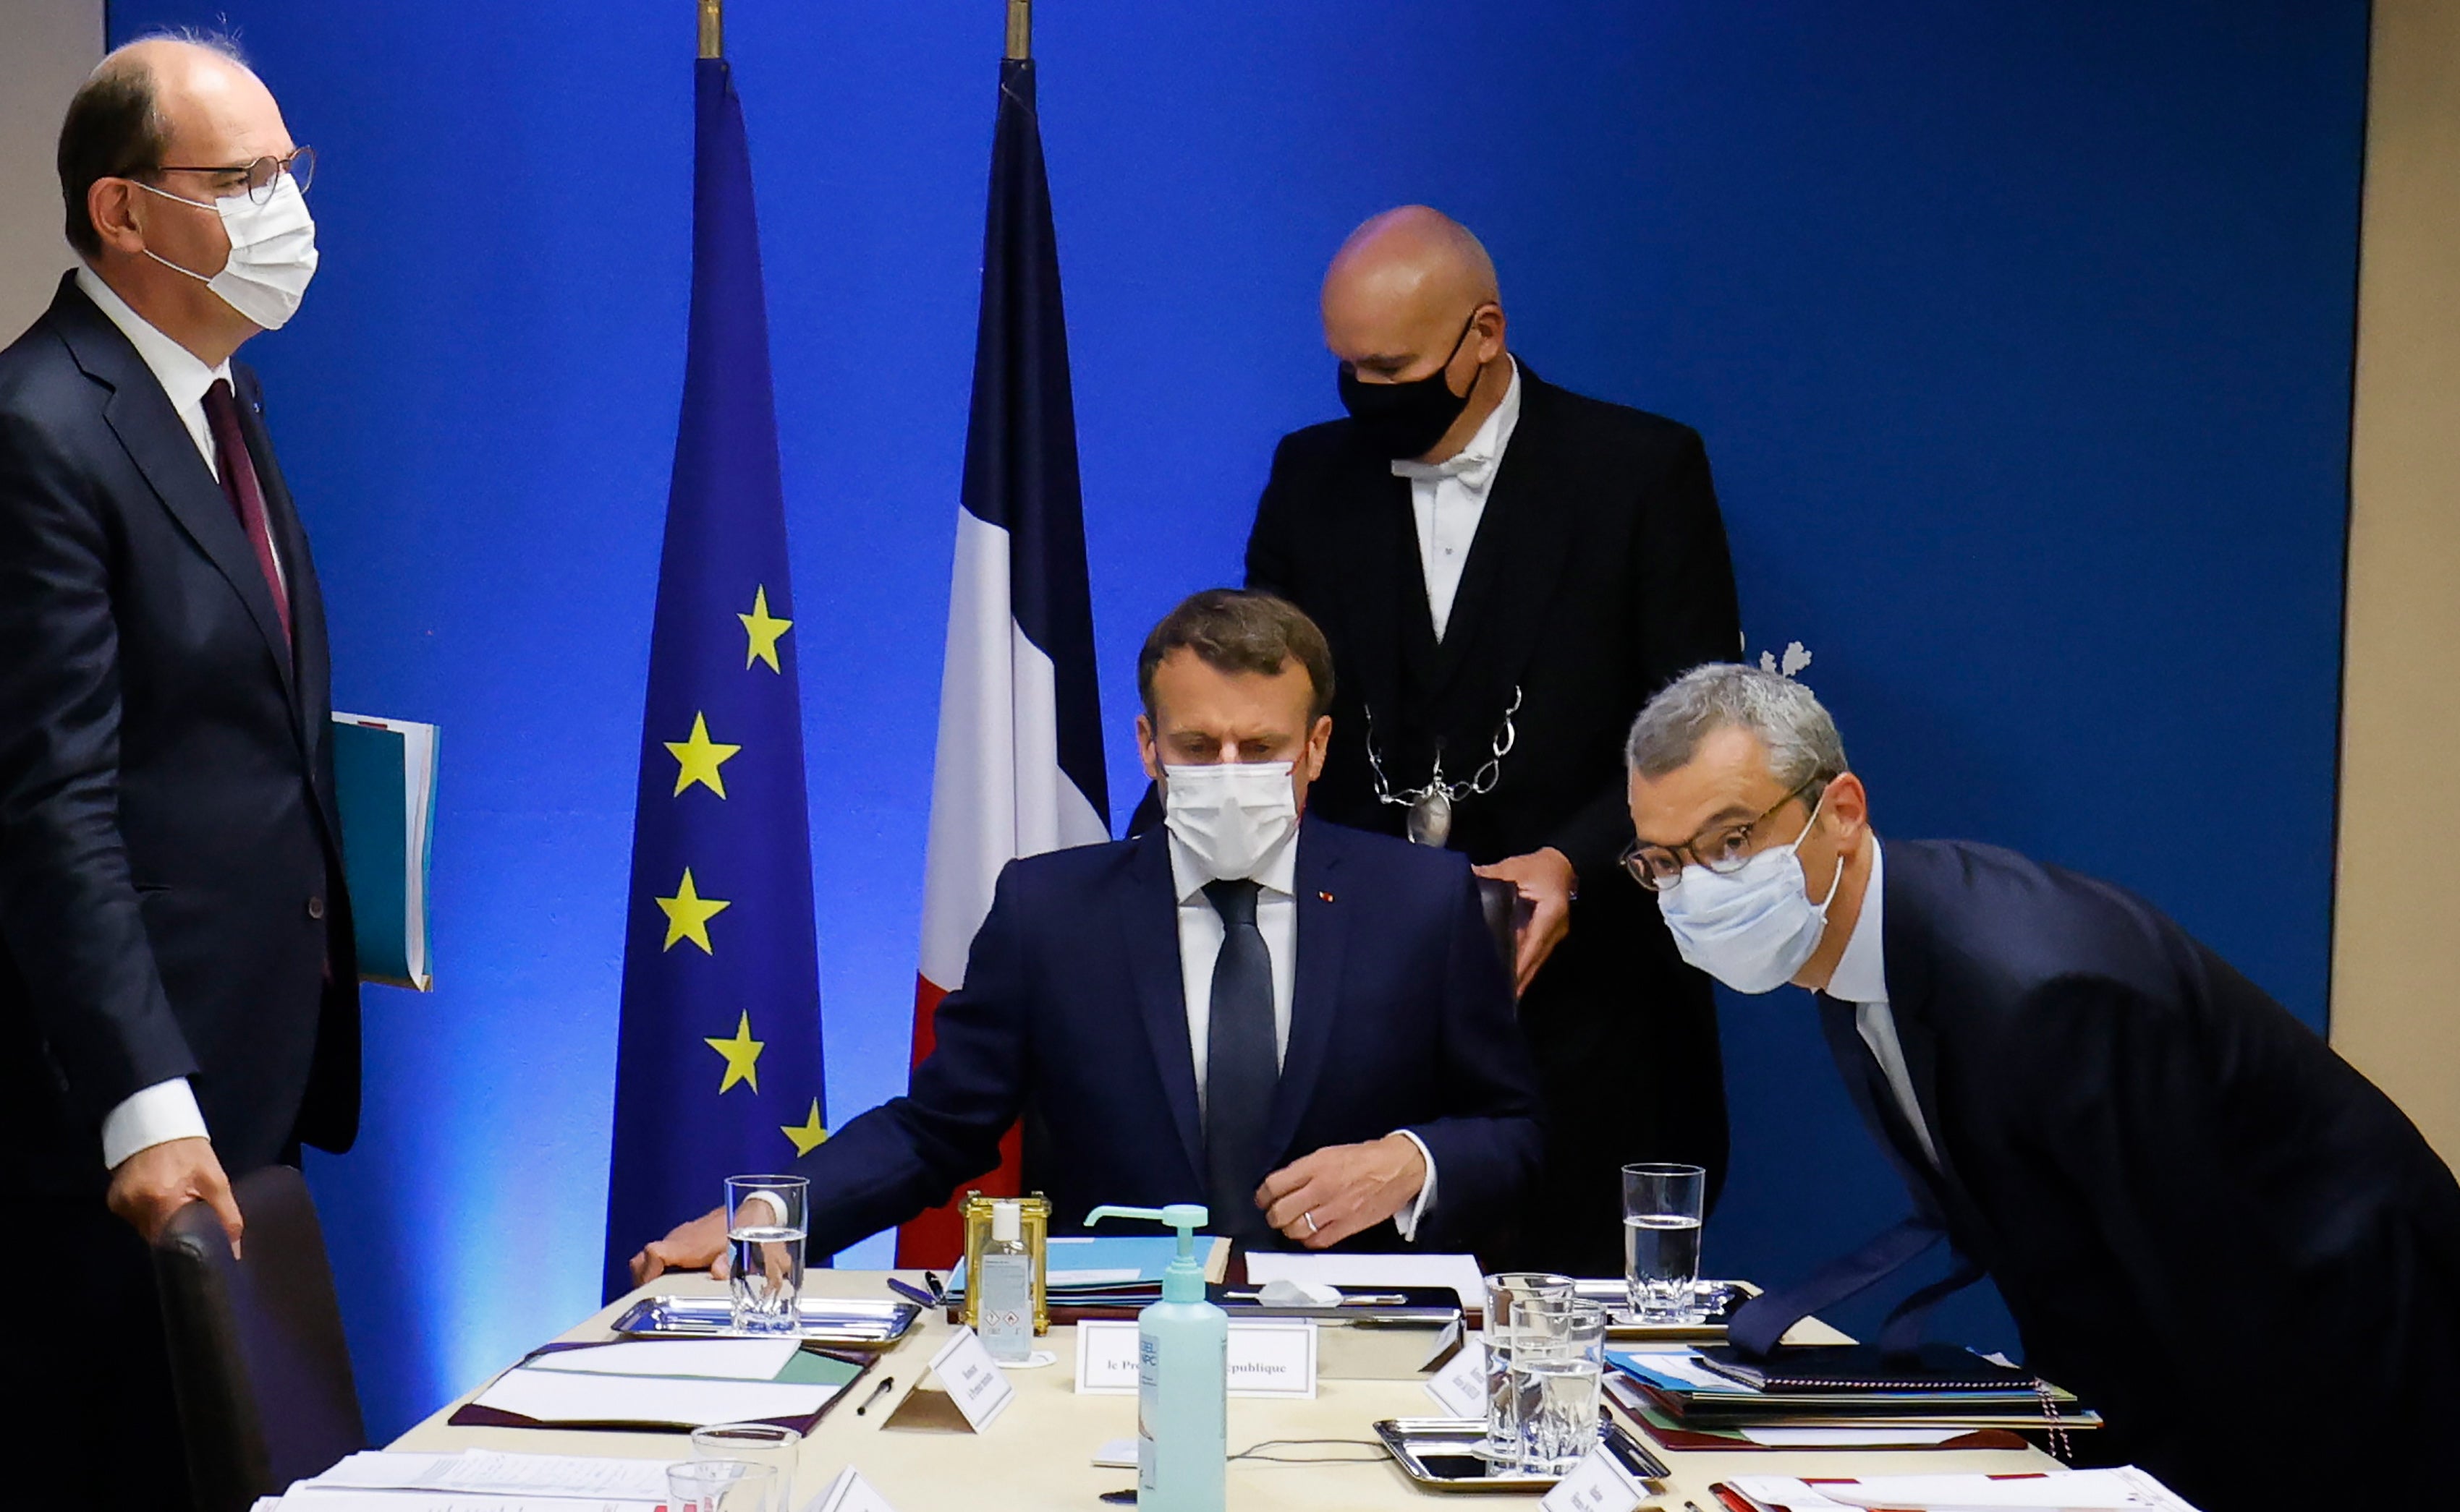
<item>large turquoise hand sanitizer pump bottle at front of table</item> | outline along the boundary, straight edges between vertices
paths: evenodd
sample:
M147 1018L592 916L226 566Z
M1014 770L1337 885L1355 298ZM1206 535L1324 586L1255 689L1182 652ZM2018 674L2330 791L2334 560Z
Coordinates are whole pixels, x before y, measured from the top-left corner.
M1230 1315L1205 1301L1196 1229L1205 1210L1095 1207L1105 1217L1144 1217L1178 1229L1178 1256L1161 1274L1161 1301L1137 1313L1137 1507L1139 1512L1223 1512L1230 1468Z

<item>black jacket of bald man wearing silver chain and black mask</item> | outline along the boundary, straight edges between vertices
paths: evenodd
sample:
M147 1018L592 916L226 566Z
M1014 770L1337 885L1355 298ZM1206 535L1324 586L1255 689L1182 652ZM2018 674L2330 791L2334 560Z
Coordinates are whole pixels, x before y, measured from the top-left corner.
M1309 789L1328 819L1402 833L1375 801L1365 715L1395 789L1486 760L1513 688L1518 745L1491 794L1464 799L1454 848L1501 860L1542 846L1601 885L1631 843L1624 735L1648 696L1742 649L1734 568L1700 433L1584 398L1520 366L1520 423L1461 568L1442 642L1410 479L1351 420L1282 438L1247 538L1247 585L1333 642L1333 747Z

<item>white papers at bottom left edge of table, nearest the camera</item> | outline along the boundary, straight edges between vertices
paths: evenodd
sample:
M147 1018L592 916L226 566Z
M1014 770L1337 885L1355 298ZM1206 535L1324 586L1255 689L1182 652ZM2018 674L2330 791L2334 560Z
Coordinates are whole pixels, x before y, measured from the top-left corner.
M354 1453L256 1512L645 1512L667 1500L669 1460L598 1455Z

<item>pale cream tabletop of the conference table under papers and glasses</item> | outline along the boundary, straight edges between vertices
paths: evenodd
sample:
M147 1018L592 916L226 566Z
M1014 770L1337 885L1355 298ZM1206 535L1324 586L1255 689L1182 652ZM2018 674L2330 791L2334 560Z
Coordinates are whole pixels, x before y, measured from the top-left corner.
M920 1271L905 1271L908 1281L920 1281ZM809 1271L807 1296L888 1298L888 1271ZM558 1335L563 1340L615 1337L610 1323L637 1298L652 1293L718 1296L723 1281L701 1274L659 1276L649 1286L598 1310L578 1328ZM1845 1335L1818 1323L1801 1325L1796 1342L1838 1342ZM1016 1401L1009 1404L984 1433L883 1428L895 1399L927 1374L930 1357L947 1340L945 1313L925 1318L893 1347L881 1364L856 1384L851 1401L831 1404L819 1428L802 1446L802 1463L795 1470L797 1507L844 1468L854 1465L898 1512L940 1512L996 1507L1001 1512L1100 1512L1102 1492L1134 1487L1134 1470L1095 1468L1092 1455L1112 1438L1137 1433L1134 1396L1080 1396L1075 1392L1075 1330L1053 1325L1038 1342L1058 1362L1041 1369L1011 1369ZM546 1342L546 1340L539 1340ZM512 1360L504 1362L507 1367ZM873 1392L878 1377L895 1377L895 1387L868 1411L856 1414L863 1396ZM492 1379L492 1377L490 1377ZM485 1382L472 1382L475 1396ZM448 1419L467 1401L453 1401L435 1411L391 1448L403 1451L458 1451L499 1448L526 1453L571 1455L637 1455L676 1460L686 1453L681 1433L603 1433L603 1431L549 1431L549 1428L455 1428ZM1232 1510L1343 1510L1373 1512L1375 1507L1432 1507L1461 1505L1459 1492L1427 1492L1414 1487L1378 1448L1373 1423L1378 1419L1444 1416L1424 1384L1407 1382L1319 1382L1314 1399L1230 1399L1230 1453L1240 1453L1267 1438L1319 1438L1351 1443L1287 1446L1274 1453L1289 1455L1355 1455L1355 1463L1230 1463ZM1877 1475L1924 1470L1988 1470L2022 1473L2049 1470L2049 1455L2022 1451L1747 1451L1747 1453L1673 1453L1660 1451L1673 1468L1673 1478L1658 1482L1651 1505L1665 1512L1683 1512L1685 1502L1702 1512L1720 1512L1710 1495L1710 1482L1732 1475ZM1466 1507L1530 1507L1530 1495L1478 1495Z

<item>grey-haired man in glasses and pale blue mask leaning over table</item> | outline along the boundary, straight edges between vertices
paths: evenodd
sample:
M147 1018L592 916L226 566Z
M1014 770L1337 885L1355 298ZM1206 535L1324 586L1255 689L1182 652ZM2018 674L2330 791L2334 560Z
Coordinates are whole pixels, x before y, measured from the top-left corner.
M1835 723L1791 679L1692 669L1624 755L1626 865L1683 956L1744 993L1818 993L1914 1197L1897 1229L1749 1303L1739 1347L1946 1237L1951 1283L1998 1283L2025 1369L2108 1419L2074 1441L2091 1458L2204 1512L2288 1487L2440 1502L2460 1187L2391 1099L2121 888L1995 846L1882 848ZM1916 1298L1884 1342L1919 1337Z

